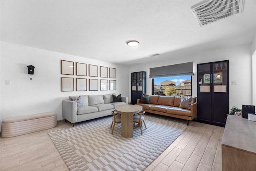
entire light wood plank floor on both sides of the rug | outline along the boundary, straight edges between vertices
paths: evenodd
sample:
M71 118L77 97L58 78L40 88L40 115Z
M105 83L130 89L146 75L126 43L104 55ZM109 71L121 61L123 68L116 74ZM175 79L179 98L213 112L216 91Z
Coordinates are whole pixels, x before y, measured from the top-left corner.
M72 126L58 121L57 127L0 138L0 171L68 171L48 131ZM111 132L111 130L110 130ZM224 127L190 122L146 171L221 171L221 141Z

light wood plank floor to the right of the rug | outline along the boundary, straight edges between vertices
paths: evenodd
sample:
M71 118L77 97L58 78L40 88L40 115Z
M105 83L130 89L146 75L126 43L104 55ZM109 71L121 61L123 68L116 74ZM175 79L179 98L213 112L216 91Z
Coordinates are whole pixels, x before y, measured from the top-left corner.
M223 133L224 127L193 122L145 171L222 171Z

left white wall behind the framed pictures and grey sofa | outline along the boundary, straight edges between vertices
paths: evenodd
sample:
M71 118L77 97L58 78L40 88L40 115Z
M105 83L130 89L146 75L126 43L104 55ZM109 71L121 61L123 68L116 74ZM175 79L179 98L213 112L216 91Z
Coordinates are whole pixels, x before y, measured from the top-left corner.
M61 60L68 60L87 64L116 68L116 79L95 78L88 76L68 76L61 74ZM62 118L62 100L67 99L69 95L84 94L108 94L122 93L122 96L129 95L128 67L60 54L47 50L30 48L16 44L1 42L1 122L2 119L21 115L29 115L42 112L56 112L57 120ZM30 80L28 75L28 65L35 66L34 75ZM75 72L74 72L75 74ZM87 69L88 75L88 69ZM100 74L98 74L100 76ZM115 91L61 91L61 77L116 80ZM5 85L5 81L10 80L11 85ZM100 82L100 81L99 81ZM74 85L76 90L76 84ZM100 89L99 89L100 90Z

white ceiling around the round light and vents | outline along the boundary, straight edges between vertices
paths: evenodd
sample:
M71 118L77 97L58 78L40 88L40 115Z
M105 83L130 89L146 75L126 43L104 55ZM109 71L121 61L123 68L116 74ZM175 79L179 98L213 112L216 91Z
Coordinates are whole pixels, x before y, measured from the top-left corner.
M255 0L202 27L190 9L198 2L1 0L1 41L127 66L252 42Z

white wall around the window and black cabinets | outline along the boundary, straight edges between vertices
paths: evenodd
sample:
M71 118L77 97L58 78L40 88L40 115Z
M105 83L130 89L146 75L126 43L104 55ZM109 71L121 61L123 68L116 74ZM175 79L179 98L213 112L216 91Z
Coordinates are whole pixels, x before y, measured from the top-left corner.
M168 56L168 53L162 54ZM156 61L158 56L155 57ZM143 65L132 66L129 72L146 71L147 72L147 93L151 94L151 80L148 77L149 68L180 64L185 62L194 62L194 76L192 76L192 96L197 96L197 64L206 62L215 62L229 60L230 74L229 79L236 80L237 85L230 85L230 108L243 104L252 105L252 64L251 44L236 46L226 49L218 49L210 52L198 52L190 56L176 56L168 61L158 61L154 63L144 63ZM230 84L230 82L229 82ZM130 93L129 93L130 95Z

